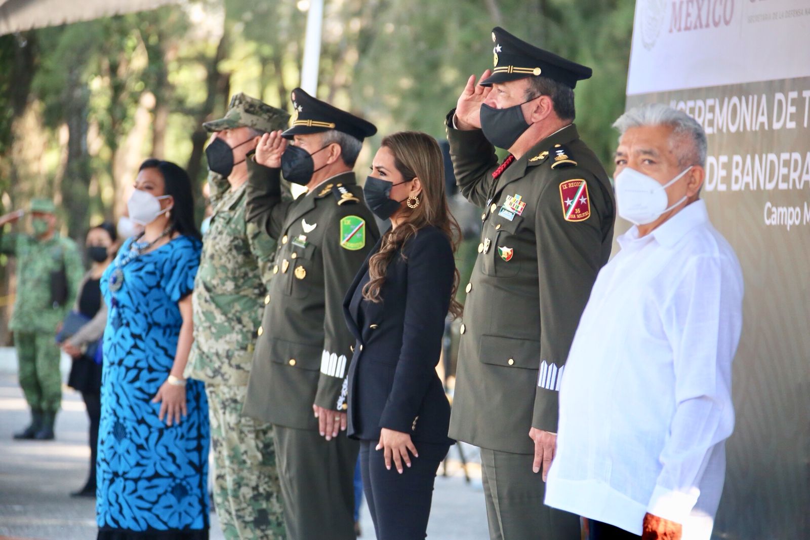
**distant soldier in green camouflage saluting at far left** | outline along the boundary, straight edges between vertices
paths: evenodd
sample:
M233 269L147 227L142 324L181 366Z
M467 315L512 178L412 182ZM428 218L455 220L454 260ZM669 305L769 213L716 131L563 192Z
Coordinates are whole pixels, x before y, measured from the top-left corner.
M54 338L70 311L84 268L79 248L56 232L56 208L48 199L31 201L33 236L4 234L0 252L17 257L17 296L9 329L14 332L19 386L31 408L31 424L15 439L53 439L62 401L59 348ZM0 217L0 226L23 212Z

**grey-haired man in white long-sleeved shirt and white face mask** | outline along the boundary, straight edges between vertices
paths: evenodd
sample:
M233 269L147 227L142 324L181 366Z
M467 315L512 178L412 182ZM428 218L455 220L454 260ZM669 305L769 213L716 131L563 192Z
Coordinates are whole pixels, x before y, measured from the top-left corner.
M545 502L588 518L591 540L708 540L734 427L743 276L699 199L701 126L664 105L614 126L616 204L634 226L573 338Z

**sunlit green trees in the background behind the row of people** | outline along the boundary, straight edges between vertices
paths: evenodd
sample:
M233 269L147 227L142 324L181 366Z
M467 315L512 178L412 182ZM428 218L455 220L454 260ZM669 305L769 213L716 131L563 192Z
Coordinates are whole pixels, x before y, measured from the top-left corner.
M10 157L30 135L14 126L32 106L49 148L64 144L64 126L86 139L71 146L67 164L51 159L42 171L62 182L87 176L75 189L62 186L70 212L112 217L122 208L123 178L133 176L120 164L151 154L188 165L203 182L199 125L223 114L231 93L288 108L300 83L306 3L191 0L0 37L0 182L32 168ZM576 89L577 123L608 165L632 24L633 2L620 0L326 0L318 96L375 122L380 134L369 147L402 129L443 137L467 77L492 65L489 32L501 25L594 68ZM149 115L147 126L139 114ZM83 234L86 221L70 221L70 234Z

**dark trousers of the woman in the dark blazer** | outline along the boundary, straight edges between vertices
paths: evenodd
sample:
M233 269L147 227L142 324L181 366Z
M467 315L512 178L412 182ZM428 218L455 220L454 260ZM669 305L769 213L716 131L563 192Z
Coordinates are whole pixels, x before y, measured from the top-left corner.
M445 444L415 442L419 457L399 474L376 440L360 441L360 474L377 540L420 540L427 536L433 481L450 448Z

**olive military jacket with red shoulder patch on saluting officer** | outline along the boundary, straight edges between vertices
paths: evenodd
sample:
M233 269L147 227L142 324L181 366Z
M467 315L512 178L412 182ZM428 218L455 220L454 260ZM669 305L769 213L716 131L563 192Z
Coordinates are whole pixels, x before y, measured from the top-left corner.
M450 123L447 138L461 192L484 207L479 255L465 285L450 437L532 453L532 426L556 433L565 360L608 262L612 188L573 124L497 180L497 156L480 130Z

